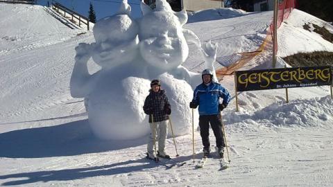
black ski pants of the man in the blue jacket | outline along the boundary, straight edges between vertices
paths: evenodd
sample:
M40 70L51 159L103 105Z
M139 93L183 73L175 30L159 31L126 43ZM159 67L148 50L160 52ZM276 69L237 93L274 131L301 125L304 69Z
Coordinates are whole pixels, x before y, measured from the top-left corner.
M199 116L200 136L204 149L210 149L210 126L215 135L217 148L221 149L225 147L221 119L221 114Z

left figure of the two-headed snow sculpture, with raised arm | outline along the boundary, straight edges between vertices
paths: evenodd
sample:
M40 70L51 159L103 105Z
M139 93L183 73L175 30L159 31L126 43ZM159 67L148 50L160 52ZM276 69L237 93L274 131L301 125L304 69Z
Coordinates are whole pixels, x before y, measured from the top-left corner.
M130 6L123 1L117 15L95 24L95 43L76 47L71 96L85 98L89 124L101 139L135 139L149 130L142 107L150 81L135 76L135 64L130 63L137 57L139 39L129 14ZM90 57L101 66L93 75L87 70Z

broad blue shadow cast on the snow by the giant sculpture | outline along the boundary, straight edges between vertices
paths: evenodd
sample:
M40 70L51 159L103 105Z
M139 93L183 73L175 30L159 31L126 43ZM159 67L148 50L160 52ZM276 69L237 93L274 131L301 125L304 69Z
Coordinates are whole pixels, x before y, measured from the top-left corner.
M101 141L87 120L0 134L0 157L43 158L119 150L146 144L146 139Z

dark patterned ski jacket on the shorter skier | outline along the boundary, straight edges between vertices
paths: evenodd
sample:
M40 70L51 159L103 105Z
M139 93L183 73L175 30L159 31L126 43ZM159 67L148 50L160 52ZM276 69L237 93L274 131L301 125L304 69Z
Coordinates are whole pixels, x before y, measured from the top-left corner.
M171 114L171 105L164 90L156 93L150 90L149 95L144 100L144 113L149 115L149 123L152 123L152 115L153 122L169 119L168 115Z

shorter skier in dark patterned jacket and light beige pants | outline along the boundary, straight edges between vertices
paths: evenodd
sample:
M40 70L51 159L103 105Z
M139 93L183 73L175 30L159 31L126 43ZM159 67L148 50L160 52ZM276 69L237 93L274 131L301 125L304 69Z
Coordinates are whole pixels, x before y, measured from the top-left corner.
M165 91L161 89L160 80L151 81L151 89L149 95L144 100L144 113L149 115L149 125L151 126L151 134L148 137L147 157L157 161L157 157L170 159L165 153L165 142L167 139L168 119L171 114L171 105L168 101ZM158 154L153 152L153 146L158 138ZM157 156L157 157L156 157Z

